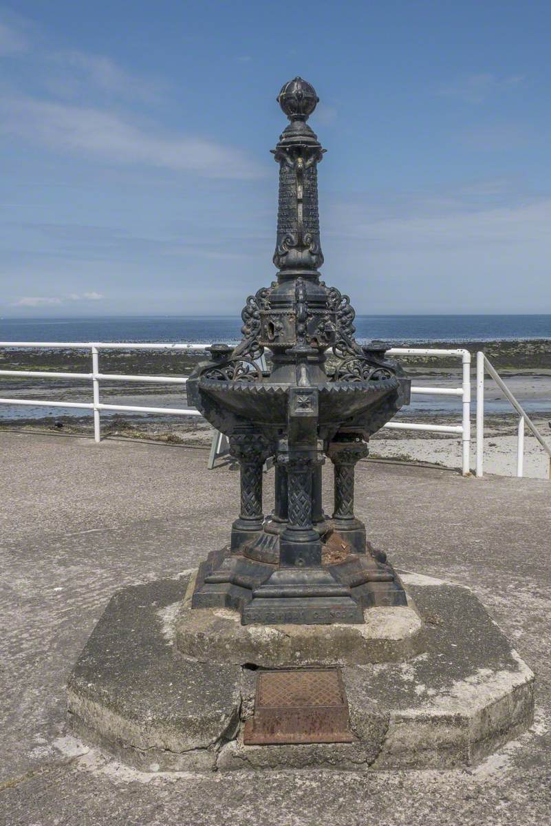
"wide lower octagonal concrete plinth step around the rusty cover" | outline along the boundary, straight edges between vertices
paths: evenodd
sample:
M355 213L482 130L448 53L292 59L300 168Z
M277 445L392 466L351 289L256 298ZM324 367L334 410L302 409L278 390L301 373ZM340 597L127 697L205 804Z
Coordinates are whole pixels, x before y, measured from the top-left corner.
M257 677L250 652L221 662L218 643L208 657L208 637L197 657L178 651L186 579L112 598L70 676L68 719L82 738L146 771L477 762L529 728L534 676L471 591L415 575L403 582L421 616L413 634L421 652L356 664L340 661L336 648L332 660L341 665L355 743L245 746Z

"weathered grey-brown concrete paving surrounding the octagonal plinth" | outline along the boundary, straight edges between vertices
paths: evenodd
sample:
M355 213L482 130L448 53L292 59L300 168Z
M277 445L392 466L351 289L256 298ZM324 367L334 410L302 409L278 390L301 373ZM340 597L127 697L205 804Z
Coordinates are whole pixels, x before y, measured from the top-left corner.
M238 476L205 464L200 450L0 434L0 823L549 823L551 487L543 480L374 463L358 473L358 511L374 543L398 567L473 587L536 672L532 733L477 769L150 780L67 738L65 681L112 592L173 577L197 563L205 542L226 539Z

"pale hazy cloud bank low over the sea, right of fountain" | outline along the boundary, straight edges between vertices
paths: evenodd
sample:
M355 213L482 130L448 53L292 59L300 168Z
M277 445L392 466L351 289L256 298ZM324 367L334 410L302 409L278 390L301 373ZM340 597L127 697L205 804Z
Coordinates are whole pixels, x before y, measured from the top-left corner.
M374 215L368 199L332 207L324 253L341 261L356 311L549 312L551 198L449 200L412 197L395 216Z

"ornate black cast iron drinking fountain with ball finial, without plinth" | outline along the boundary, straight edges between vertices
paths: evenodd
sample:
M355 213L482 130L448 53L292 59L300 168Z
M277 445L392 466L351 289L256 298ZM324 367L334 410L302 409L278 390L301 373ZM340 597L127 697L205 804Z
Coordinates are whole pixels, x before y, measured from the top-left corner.
M407 605L386 555L354 515L354 475L370 435L409 402L411 382L384 344L357 343L349 297L320 280L325 150L307 123L318 96L294 78L277 100L290 121L273 150L277 280L247 298L241 343L213 344L187 382L188 400L228 436L241 473L231 542L200 566L192 607L232 608L243 624L363 623L366 607ZM265 350L269 370L258 366ZM322 502L325 457L334 468L331 517ZM275 507L265 517L268 458Z

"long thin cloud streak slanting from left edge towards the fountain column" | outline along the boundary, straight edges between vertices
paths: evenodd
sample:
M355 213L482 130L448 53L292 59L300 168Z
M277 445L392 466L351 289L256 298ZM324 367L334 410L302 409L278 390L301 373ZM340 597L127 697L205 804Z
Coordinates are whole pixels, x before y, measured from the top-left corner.
M207 178L252 179L265 174L264 168L243 151L212 140L155 135L101 109L42 102L31 97L0 101L0 134L110 163L195 172Z

